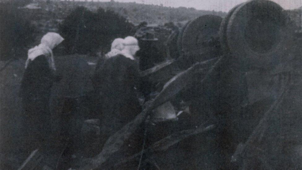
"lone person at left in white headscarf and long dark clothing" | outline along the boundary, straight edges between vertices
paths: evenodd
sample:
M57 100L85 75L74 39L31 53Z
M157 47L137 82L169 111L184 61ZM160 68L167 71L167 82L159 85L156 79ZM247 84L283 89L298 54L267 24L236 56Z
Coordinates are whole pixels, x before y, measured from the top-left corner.
M41 146L50 134L50 92L56 81L52 50L63 40L57 33L47 33L40 45L28 50L20 97L24 108L24 133L30 146ZM34 149L30 146L28 149Z

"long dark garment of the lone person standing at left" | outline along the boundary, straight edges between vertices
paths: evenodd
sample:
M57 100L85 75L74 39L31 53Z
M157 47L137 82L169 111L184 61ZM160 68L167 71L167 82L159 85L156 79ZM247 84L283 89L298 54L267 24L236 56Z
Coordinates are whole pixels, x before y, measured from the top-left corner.
M40 147L50 134L50 92L53 70L44 55L29 63L21 82L20 97L24 108L25 145L32 151Z

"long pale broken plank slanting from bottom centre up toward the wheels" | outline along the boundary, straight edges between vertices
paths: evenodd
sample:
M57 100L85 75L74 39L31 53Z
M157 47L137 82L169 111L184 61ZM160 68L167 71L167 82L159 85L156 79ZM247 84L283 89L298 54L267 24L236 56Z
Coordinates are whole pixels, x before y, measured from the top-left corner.
M221 61L223 58L224 56L219 57L218 59L216 59L216 62L211 65L210 68L208 68L208 71L204 73L203 76L199 79L201 84L205 82L205 80L208 79L212 74L214 69L217 68L220 63L222 63ZM103 147L103 150L99 155L97 155L93 159L84 160L87 165L79 169L98 168L108 159L110 159L111 155L121 150L125 141L136 132L139 126L146 120L146 117L153 111L153 109L169 101L181 90L186 89L190 85L192 85L194 83L194 75L196 75L196 73L204 71L204 65L208 62L209 60L202 63L196 63L186 71L183 71L172 78L168 83L166 83L160 94L158 94L157 97L152 102L150 102L148 107L146 107L139 115L137 115L134 120L126 124L122 129L108 138Z

